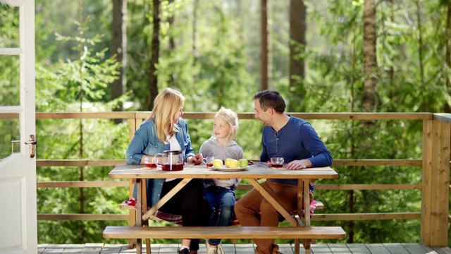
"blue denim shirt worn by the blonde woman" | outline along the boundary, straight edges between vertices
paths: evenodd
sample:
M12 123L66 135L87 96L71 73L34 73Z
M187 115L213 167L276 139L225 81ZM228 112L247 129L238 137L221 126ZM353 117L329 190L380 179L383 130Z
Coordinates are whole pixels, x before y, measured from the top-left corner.
M191 147L190 135L188 134L188 125L184 119L179 118L177 126L180 131L175 133L180 147L185 152L185 161L187 157L194 156L194 150ZM161 143L156 136L155 122L153 120L144 121L137 129L135 137L128 145L125 152L125 162L127 164L140 164L143 155L156 155L164 150L171 150L171 145ZM165 179L147 179L147 206L152 207L160 200L161 190ZM137 198L137 186L133 191L133 198Z

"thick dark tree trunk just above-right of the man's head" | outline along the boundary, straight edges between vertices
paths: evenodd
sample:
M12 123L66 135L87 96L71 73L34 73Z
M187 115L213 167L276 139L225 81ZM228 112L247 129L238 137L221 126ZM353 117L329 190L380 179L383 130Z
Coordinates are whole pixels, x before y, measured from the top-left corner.
M290 91L295 99L302 102L305 95L303 83L296 83L294 77L305 78L304 58L295 59L299 52L299 44L305 46L305 32L306 26L306 6L303 0L290 0ZM298 50L297 50L298 49ZM295 111L295 104L290 103L289 111ZM304 111L304 109L298 109Z

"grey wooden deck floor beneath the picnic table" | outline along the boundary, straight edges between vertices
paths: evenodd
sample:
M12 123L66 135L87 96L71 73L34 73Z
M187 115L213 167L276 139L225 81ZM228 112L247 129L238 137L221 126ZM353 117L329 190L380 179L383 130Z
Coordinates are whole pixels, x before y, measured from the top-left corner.
M280 244L280 252L283 254L293 254L294 246L291 244ZM227 254L252 254L254 244L224 244L224 251ZM176 254L178 244L152 244L152 254ZM136 249L128 249L125 244L39 244L37 253L82 253L82 254L119 254L136 253ZM143 253L145 246L143 246ZM301 253L304 253L301 248ZM451 254L448 247L425 247L419 243L318 243L311 246L312 254ZM201 245L199 254L206 254L205 247Z

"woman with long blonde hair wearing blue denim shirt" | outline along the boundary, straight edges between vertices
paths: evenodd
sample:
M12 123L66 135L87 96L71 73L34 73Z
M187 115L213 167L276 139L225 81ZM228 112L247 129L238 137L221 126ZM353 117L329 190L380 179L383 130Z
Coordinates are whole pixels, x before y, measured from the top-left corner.
M185 161L202 163L202 154L194 155L188 126L183 116L185 97L178 90L165 88L154 101L154 109L142 123L128 146L125 162L144 164L146 157L153 157L163 150L185 152ZM182 179L147 179L147 204L153 206ZM136 186L133 196L136 198ZM201 179L192 179L160 209L168 214L181 214L183 226L208 226L209 203L204 199ZM178 253L197 253L199 239L182 239Z

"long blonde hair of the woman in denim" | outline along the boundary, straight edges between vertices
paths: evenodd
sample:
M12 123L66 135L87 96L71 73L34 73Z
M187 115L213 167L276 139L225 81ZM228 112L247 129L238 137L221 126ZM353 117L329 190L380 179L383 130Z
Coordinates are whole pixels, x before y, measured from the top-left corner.
M178 132L178 127L173 122L174 116L180 114L185 103L182 93L173 88L165 88L156 95L154 109L146 119L155 121L156 136L161 143L167 144L169 138Z

